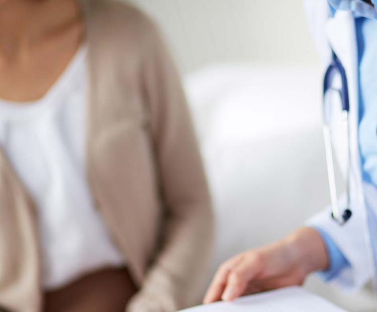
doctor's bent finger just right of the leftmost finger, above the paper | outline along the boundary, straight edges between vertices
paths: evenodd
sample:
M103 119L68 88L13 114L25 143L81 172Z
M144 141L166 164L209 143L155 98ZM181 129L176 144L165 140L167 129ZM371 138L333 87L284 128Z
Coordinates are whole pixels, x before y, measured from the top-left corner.
M233 267L228 274L227 284L222 295L223 300L234 300L246 294L250 282L261 275L265 269L263 254L257 251L249 252Z

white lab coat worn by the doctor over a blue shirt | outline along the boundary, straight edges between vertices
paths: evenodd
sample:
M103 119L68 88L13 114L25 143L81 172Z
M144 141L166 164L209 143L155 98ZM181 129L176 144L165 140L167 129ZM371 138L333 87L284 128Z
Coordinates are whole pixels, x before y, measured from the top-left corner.
M309 225L324 229L338 245L350 262L350 268L343 270L333 281L343 288L357 289L374 277L371 241L367 225L365 185L362 182L361 161L358 148L358 61L355 23L352 13L338 11L334 17L329 14L327 0L306 0L306 9L313 38L323 57L324 67L331 60L333 48L342 62L348 80L350 98L350 148L351 148L351 210L352 217L343 225L337 225L330 217L330 208L325 209L308 221ZM336 121L333 121L336 122ZM337 127L334 127L337 128ZM340 168L346 168L347 155L344 151L344 133L334 131L334 147ZM370 196L375 190L369 190ZM369 195L368 195L369 196ZM374 239L374 243L377 238Z

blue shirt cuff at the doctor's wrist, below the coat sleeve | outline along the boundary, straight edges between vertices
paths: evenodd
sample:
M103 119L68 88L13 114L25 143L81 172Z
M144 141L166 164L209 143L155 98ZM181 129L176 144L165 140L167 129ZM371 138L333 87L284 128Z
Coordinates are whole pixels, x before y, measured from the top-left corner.
M327 282L336 278L344 268L349 267L349 262L326 231L317 226L313 227L320 233L329 255L329 268L318 272L319 277Z

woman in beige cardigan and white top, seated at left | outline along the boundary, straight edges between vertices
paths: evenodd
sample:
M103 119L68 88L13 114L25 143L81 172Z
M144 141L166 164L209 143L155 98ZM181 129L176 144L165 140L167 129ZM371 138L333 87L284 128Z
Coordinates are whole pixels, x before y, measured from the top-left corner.
M0 310L194 304L210 200L153 23L111 1L2 0L0 98Z

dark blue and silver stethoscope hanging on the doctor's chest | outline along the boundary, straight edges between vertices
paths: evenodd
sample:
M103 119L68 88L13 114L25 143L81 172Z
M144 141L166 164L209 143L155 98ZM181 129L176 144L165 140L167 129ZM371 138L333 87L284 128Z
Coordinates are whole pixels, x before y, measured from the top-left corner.
M333 87L334 77L340 77L340 88ZM337 95L340 98L341 102L341 123L342 130L346 135L346 144L347 144L347 157L348 164L346 169L346 207L341 209L338 202L337 188L335 182L335 167L334 167L334 158L333 158L333 147L331 139L331 130L330 130L330 118L327 114L331 111L331 95ZM334 103L334 102L333 102ZM335 52L332 51L332 61L327 68L323 81L323 133L325 138L325 151L326 151L326 163L327 163L327 175L329 180L330 188L330 199L331 199L331 216L339 224L343 225L349 220L352 215L350 210L350 160L351 160L351 150L349 143L349 97L348 97L348 85L347 85L347 76L345 69L340 62L339 58L336 56Z

